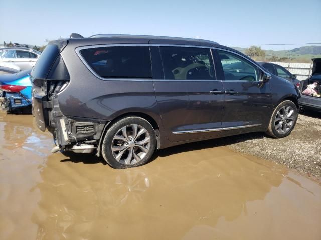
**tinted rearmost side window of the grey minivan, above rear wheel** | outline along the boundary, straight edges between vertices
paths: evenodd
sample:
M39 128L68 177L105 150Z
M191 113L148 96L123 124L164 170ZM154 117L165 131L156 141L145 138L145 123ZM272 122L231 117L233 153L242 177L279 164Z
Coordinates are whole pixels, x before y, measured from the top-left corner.
M151 78L148 46L114 46L80 51L90 67L104 78Z

